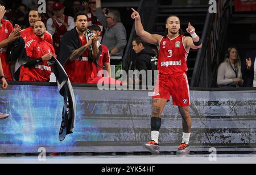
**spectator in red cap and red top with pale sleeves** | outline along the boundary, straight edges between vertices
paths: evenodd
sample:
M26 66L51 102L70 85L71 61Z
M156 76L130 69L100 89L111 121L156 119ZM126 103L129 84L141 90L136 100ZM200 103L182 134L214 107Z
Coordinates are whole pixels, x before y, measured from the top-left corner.
M53 36L53 46L58 53L60 39L67 31L75 28L74 18L64 15L64 7L61 2L53 4L53 16L47 20L47 31Z

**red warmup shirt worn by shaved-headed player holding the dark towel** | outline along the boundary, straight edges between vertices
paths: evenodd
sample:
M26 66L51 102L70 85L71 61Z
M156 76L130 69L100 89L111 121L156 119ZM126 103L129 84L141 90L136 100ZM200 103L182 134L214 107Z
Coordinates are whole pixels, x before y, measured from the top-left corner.
M39 59L50 52L56 57L53 46L37 36L27 41L26 51L31 59ZM51 73L51 66L43 61L32 68L26 68L22 81L47 82Z

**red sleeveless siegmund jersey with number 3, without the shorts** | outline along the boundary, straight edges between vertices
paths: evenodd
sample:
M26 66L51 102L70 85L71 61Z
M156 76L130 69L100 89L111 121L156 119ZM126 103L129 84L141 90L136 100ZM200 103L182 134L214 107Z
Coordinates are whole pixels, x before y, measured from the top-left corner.
M179 76L187 73L188 51L184 47L184 37L183 35L179 35L174 39L163 37L160 41L158 58L159 74Z

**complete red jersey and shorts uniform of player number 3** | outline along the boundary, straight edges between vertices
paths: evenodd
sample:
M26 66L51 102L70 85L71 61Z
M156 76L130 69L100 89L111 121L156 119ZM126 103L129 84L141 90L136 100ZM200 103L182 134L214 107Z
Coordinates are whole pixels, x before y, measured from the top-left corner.
M160 42L158 70L154 98L164 98L176 106L189 106L189 85L187 78L188 51L184 47L184 36L174 39L164 37Z

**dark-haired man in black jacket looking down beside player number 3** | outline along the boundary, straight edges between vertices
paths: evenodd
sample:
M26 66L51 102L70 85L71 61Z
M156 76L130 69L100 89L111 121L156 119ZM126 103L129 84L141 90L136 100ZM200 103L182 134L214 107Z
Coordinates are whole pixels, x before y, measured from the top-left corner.
M158 70L158 58L156 57L155 52L152 51L152 49L147 46L147 43L139 37L133 39L133 50L138 56L135 69L139 72L146 70L147 73L147 77L135 78L135 84L144 85L143 79L147 78L144 82L147 82L147 85L154 86L156 76L154 72L155 70ZM152 77L152 82L148 82L148 80L151 80L148 76Z

